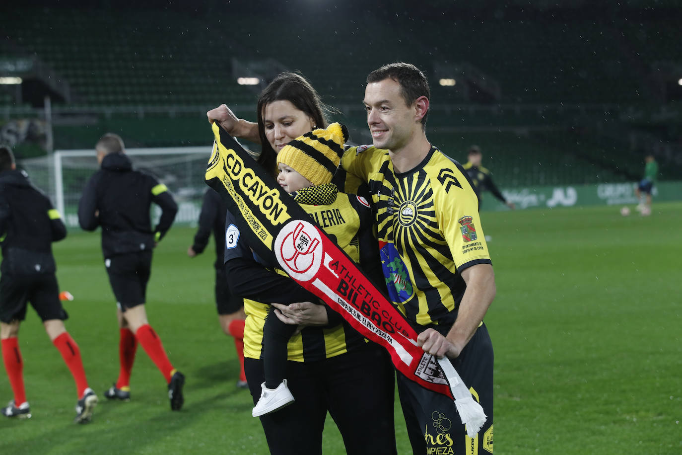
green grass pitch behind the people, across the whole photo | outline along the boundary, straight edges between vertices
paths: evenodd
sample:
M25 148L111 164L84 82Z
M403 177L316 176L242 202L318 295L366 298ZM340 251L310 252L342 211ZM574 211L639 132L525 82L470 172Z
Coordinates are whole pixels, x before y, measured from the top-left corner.
M483 223L497 282L486 317L496 453L682 453L682 203L655 205L648 218L593 207L484 212ZM100 405L91 424L71 423L74 383L29 310L20 347L33 418L0 419L0 452L267 454L250 396L235 388L233 342L218 325L212 246L188 258L192 235L171 229L156 250L147 304L187 376L183 410L170 411L141 348L132 401L104 400L119 368L115 304L100 235L72 233L55 244L58 278L76 297L65 303L67 327ZM0 399L11 398L2 375ZM411 453L397 400L396 431L398 452ZM330 418L323 453L344 453Z

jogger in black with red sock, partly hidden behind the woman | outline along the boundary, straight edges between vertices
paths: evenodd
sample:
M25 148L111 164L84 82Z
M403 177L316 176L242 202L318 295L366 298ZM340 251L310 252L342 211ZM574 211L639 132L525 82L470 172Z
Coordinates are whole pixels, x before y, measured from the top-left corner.
M209 243L209 237L213 232L213 240L216 244L216 306L218 307L218 320L220 327L226 335L235 338L235 348L239 359L239 379L237 387L246 388L246 375L244 374L244 299L230 292L227 285L227 276L224 269L223 257L225 255L225 217L227 206L220 199L220 195L209 188L204 194L199 214L199 228L194 235L194 243L187 250L187 255L195 257L201 254Z

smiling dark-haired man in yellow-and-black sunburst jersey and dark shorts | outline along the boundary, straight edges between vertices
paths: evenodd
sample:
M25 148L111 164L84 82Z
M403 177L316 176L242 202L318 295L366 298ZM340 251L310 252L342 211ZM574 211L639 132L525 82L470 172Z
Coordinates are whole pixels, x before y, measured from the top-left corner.
M342 167L370 188L389 297L424 351L447 355L488 421L466 435L452 400L398 373L415 454L492 453L492 343L483 318L495 295L475 190L462 166L426 138L430 90L409 63L370 73L364 104L373 145Z

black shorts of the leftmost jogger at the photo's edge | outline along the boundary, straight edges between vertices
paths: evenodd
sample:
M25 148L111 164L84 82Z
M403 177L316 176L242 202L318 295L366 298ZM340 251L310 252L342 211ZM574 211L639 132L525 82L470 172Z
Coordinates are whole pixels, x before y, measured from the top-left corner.
M42 321L69 316L59 302L59 285L55 274L0 276L0 321L9 324L26 318L26 305L31 306Z

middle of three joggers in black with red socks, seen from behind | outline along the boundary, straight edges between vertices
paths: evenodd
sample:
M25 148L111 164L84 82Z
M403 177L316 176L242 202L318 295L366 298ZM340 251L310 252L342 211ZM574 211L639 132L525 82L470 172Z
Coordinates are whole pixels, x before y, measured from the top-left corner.
M183 404L185 377L170 364L145 311L151 251L173 224L177 204L164 184L151 175L133 171L123 141L116 134L102 136L95 150L101 169L83 190L78 203L78 222L86 231L102 226L104 265L118 305L121 370L119 379L104 396L130 399L130 373L139 342L164 375L170 409L177 411ZM151 203L162 209L154 229L149 218Z

